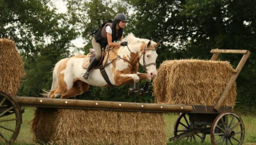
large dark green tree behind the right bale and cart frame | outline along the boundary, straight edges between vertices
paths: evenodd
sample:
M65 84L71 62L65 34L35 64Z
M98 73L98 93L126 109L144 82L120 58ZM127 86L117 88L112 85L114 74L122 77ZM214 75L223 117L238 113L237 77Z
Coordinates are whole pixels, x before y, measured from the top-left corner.
M251 106L256 95L256 35L254 0L129 0L134 6L131 31L162 40L157 53L165 59L210 59L211 49L247 49L251 56L237 79L238 101ZM241 56L226 55L236 66Z

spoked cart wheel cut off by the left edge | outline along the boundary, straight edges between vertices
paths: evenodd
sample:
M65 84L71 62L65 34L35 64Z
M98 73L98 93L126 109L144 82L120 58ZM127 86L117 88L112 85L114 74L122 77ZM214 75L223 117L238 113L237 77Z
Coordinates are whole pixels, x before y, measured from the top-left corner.
M0 92L0 142L12 144L20 132L21 122L20 106Z

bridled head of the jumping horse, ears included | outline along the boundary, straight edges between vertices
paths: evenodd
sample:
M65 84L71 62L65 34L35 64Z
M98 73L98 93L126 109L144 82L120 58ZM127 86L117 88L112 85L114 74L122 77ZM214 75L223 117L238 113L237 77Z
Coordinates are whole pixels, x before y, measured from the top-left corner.
M156 60L157 52L156 48L160 42L155 43L148 41L148 44L142 44L140 49L140 64L143 65L144 70L147 71L150 78L154 78L157 75Z

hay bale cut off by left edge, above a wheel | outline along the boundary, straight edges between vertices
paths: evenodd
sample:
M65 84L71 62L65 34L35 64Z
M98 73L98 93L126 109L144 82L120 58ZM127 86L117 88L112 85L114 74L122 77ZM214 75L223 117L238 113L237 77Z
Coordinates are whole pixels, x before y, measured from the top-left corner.
M0 91L16 95L23 76L23 61L14 41L0 39Z

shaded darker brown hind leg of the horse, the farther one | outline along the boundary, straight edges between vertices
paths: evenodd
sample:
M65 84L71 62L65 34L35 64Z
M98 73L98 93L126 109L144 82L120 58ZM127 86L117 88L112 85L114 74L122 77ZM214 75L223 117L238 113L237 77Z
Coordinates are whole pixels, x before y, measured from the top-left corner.
M89 84L84 83L83 81L76 81L73 87L70 90L67 90L64 94L61 95L61 99L67 99L69 97L80 95L89 90Z

